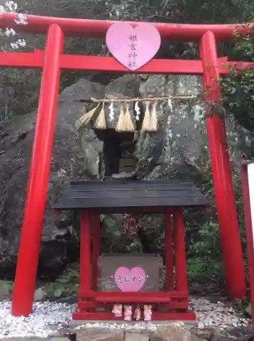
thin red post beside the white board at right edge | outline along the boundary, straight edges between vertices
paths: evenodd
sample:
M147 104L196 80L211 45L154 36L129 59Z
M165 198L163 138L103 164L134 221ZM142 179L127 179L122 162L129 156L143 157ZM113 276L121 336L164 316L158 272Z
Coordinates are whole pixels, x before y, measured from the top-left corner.
M241 168L243 207L245 220L245 234L247 242L248 269L250 274L250 301L252 310L252 322L254 332L254 243L253 243L253 222L250 211L250 190L248 184L248 162L243 161Z

